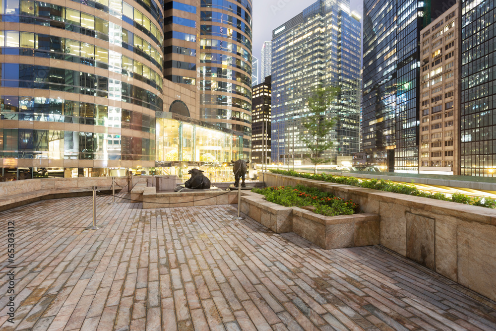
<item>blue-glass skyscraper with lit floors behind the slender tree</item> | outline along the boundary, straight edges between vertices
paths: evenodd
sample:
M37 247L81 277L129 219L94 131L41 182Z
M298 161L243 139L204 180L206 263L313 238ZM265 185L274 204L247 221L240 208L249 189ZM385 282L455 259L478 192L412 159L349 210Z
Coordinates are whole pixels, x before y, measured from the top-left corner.
M313 89L340 87L326 116L336 120L324 157L359 149L360 16L348 0L318 0L272 32L272 160L302 164L308 154L301 137ZM291 159L291 161L289 161Z

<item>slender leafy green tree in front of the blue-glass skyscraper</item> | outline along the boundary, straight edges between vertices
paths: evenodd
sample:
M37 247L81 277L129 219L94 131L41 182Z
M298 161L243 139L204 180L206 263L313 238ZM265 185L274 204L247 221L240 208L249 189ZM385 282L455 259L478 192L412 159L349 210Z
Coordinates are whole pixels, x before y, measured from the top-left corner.
M334 120L327 118L326 111L339 95L338 87L324 88L319 85L308 99L310 116L306 118L305 126L308 134L302 140L311 154L306 155L314 166L314 174L317 173L317 165L328 162L329 159L320 157L322 152L328 150L333 142L326 139L326 136L334 127Z

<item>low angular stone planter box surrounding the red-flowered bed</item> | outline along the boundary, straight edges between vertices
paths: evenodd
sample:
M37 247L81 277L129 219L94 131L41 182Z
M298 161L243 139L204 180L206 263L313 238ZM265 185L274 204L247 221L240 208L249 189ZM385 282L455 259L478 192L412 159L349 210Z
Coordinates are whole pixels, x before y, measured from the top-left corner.
M241 198L241 212L275 233L294 232L324 249L371 246L380 241L376 214L324 216L281 206L251 192Z

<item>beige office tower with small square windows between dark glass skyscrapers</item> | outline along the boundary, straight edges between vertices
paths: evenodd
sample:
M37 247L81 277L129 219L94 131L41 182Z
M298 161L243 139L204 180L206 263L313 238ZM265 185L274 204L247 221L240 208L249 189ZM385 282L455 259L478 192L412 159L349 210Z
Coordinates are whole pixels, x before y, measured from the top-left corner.
M460 175L458 3L420 32L420 173Z

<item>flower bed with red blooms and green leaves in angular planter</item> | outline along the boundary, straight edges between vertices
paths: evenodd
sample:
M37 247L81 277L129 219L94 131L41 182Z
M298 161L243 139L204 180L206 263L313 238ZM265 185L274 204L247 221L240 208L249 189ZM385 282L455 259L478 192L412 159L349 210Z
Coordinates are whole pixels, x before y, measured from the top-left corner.
M353 215L360 206L351 201L333 196L315 188L303 185L268 187L253 189L252 192L265 196L265 199L286 207L314 206L317 214L325 216Z

